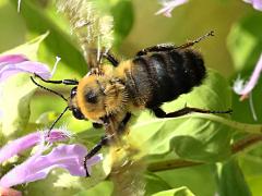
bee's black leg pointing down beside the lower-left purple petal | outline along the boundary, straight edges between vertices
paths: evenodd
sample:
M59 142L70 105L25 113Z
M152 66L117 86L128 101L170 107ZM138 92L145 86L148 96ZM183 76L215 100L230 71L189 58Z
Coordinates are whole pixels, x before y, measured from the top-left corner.
M87 171L87 160L91 159L93 156L95 156L100 149L103 146L107 145L108 143L110 142L110 136L103 136L100 138L100 142L98 144L96 144L92 149L91 151L85 156L84 158L84 169L85 169L85 172L86 172L86 176L90 176L90 173Z

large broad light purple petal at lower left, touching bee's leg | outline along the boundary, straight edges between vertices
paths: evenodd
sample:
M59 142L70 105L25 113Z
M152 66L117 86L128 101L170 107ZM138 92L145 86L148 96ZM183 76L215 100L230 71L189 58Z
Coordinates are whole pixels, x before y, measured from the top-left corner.
M0 186L11 187L45 179L53 168L64 168L72 175L85 176L83 160L86 154L87 150L82 145L60 145L53 148L48 155L34 155L7 173L0 180ZM100 159L94 158L94 160ZM88 169L91 168L90 164L87 167Z

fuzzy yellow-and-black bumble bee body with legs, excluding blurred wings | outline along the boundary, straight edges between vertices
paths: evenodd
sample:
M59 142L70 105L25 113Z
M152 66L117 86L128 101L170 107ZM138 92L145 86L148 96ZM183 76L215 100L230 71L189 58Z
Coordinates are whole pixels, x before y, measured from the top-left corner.
M99 69L92 69L79 82L40 78L46 83L74 85L66 110L71 110L79 120L91 120L105 127L105 136L86 155L85 161L97 154L104 145L120 139L135 110L150 109L157 118L176 118L190 112L230 112L184 107L166 113L160 109L164 102L191 91L206 77L203 58L191 46L207 36L213 36L213 32L178 47L162 44L142 49L133 59L122 62L108 51L103 52L102 56L111 65L103 64ZM33 77L32 79L36 83Z

